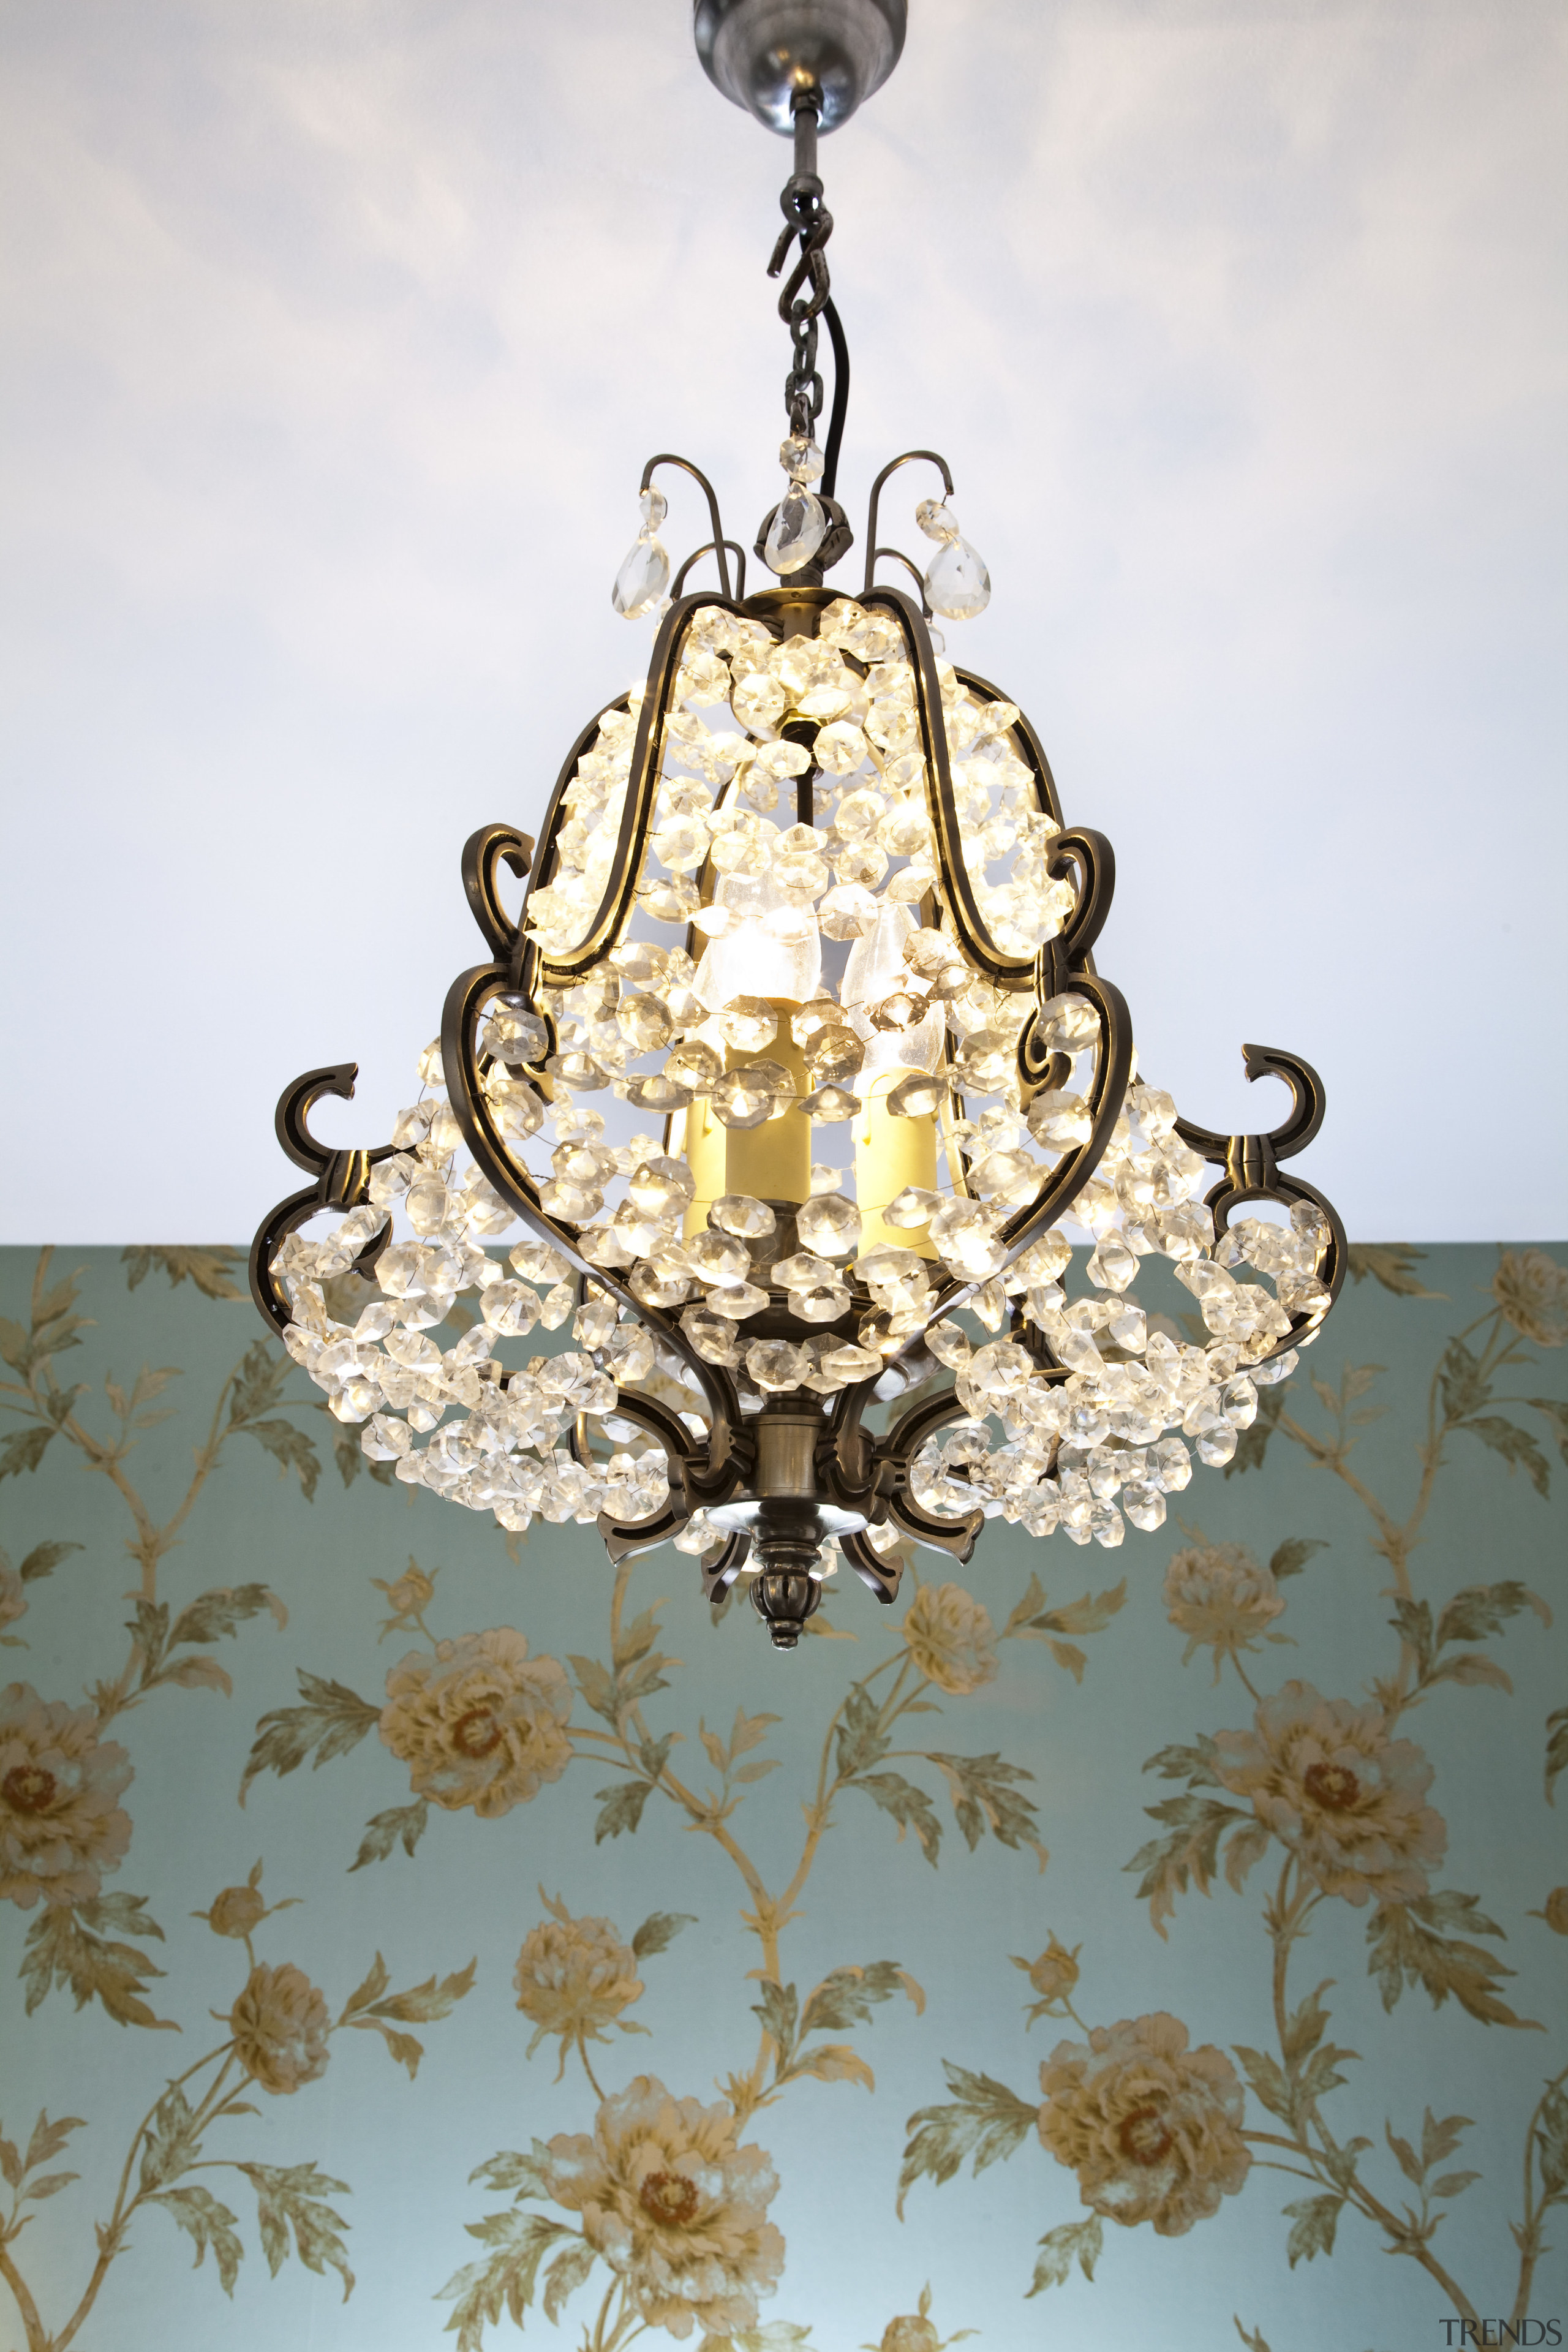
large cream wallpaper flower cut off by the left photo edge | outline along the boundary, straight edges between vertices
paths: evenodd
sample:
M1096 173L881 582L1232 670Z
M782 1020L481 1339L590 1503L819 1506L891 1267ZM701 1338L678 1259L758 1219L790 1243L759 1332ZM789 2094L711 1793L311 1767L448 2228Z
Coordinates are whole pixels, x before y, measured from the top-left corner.
M0 1691L0 1896L31 1910L87 1903L132 1842L115 1799L132 1780L94 1708L42 1700L26 1682Z

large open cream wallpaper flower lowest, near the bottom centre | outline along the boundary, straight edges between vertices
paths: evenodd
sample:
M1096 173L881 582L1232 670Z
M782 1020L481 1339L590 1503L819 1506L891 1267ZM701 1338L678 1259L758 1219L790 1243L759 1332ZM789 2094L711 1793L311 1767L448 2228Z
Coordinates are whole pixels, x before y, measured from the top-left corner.
M625 2279L646 2326L757 2326L757 2296L773 2293L785 2253L766 2218L778 2173L766 2150L736 2145L729 2107L672 2098L637 2074L604 2100L592 2138L550 2140L545 2180L581 2213L583 2237Z

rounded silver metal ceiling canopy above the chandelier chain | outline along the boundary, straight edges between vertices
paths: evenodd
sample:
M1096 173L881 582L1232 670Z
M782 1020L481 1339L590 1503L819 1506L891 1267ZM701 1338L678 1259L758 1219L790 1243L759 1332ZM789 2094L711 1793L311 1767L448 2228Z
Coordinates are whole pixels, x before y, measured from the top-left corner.
M785 136L806 92L832 132L903 54L905 0L696 0L696 54L715 89Z

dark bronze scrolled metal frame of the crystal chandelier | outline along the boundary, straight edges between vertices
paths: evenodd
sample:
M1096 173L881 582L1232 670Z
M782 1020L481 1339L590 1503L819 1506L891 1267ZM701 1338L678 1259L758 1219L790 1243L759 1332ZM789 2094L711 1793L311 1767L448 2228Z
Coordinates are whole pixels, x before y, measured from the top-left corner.
M827 325L837 360L842 329L832 306L827 306ZM837 459L837 435L832 456ZM914 706L919 715L919 748L926 764L926 802L938 868L938 903L926 920L950 927L969 967L983 974L994 988L1009 990L1011 995L1030 993L1034 997L1034 1009L1030 1011L1030 1018L1018 1037L1018 1077L1025 1101L1039 1089L1065 1084L1072 1068L1065 1054L1044 1044L1039 1030L1041 1007L1051 997L1072 993L1091 1002L1100 1016L1095 1065L1086 1087L1086 1108L1091 1115L1088 1136L1058 1160L1034 1200L1025 1202L1004 1223L999 1232L1004 1258L994 1270L999 1275L1006 1272L1006 1268L1046 1225L1072 1207L1077 1195L1100 1167L1114 1124L1121 1115L1133 1056L1131 1014L1121 990L1114 988L1112 981L1103 978L1093 967L1093 946L1105 927L1114 894L1117 861L1112 844L1103 833L1063 826L1056 779L1051 776L1046 753L1027 717L1018 715L1009 734L1032 771L1034 802L1053 826L1053 837L1046 849L1046 870L1053 880L1070 877L1074 882L1074 908L1058 936L1046 941L1034 955L1009 955L992 938L980 910L976 882L964 858L952 762L947 755L947 731L943 724L943 691L931 635L926 630L924 581L907 555L896 548L877 546L882 489L900 466L914 461L933 463L940 470L945 494L952 494L947 463L933 449L910 449L882 468L870 492L867 562L860 602L867 609L882 609L898 623L898 633L917 680ZM512 1007L522 1004L538 1009L538 995L543 988L571 988L602 962L618 938L623 938L635 910L637 884L642 880L649 837L656 821L670 687L679 670L686 635L696 614L705 609L722 609L736 614L738 619L762 619L769 628L788 628L790 612L799 614L802 607L820 609L837 595L837 590L827 590L811 579L802 579L771 586L762 595L748 600L745 555L736 541L724 536L719 501L712 485L686 459L665 452L649 459L642 477L644 489L651 485L658 466L677 466L698 482L708 499L712 536L705 546L696 548L696 553L689 555L675 574L675 600L668 607L654 640L649 680L637 710L630 771L616 828L616 847L604 889L599 894L599 906L578 946L567 953L543 950L541 943L529 936L529 901L536 889L545 889L552 882L557 870L562 804L576 776L576 767L597 741L607 715L630 710L628 696L604 703L604 708L595 713L571 746L545 809L538 854L527 833L503 823L482 826L463 844L463 889L489 950L489 962L458 974L442 1009L442 1065L447 1096L463 1134L463 1143L468 1145L484 1181L501 1195L501 1200L508 1202L515 1216L522 1218L531 1232L548 1242L550 1249L559 1251L559 1256L576 1270L578 1294L583 1291L583 1284L592 1282L597 1289L616 1298L630 1315L635 1315L637 1322L654 1334L656 1343L672 1350L675 1357L682 1359L682 1364L698 1381L708 1406L710 1428L698 1437L656 1397L635 1388L616 1388L616 1404L609 1411L609 1418L621 1418L639 1428L663 1449L670 1491L661 1510L646 1519L616 1519L611 1512L599 1512L597 1526L611 1559L621 1559L628 1552L646 1550L670 1536L677 1536L696 1510L717 1508L741 1494L755 1475L755 1437L745 1428L741 1397L729 1371L698 1355L675 1317L644 1305L618 1270L588 1261L578 1247L578 1237L543 1211L538 1183L512 1155L496 1124L484 1087L491 1070L491 1056L480 1049L480 1025L494 1000L510 1002ZM825 485L827 492L830 487L832 482ZM717 562L719 590L682 595L686 574L703 555L712 555ZM731 593L731 555L736 557L736 593ZM875 567L884 555L891 555L910 569L914 583L922 588L919 602L900 588L875 583ZM990 680L971 670L957 670L957 677L959 684L976 699L1004 699ZM517 920L505 913L501 901L501 868L510 870L512 877L527 884ZM522 1070L541 1098L548 1098L552 1091L552 1077L545 1068L552 1049L555 1035L550 1030L545 1054L538 1054L522 1065L508 1063L515 1073ZM1321 1279L1326 1282L1333 1303L1345 1279L1345 1230L1340 1218L1321 1192L1298 1178L1284 1176L1279 1169L1279 1162L1300 1152L1321 1127L1321 1080L1316 1077L1316 1070L1298 1056L1279 1054L1265 1047L1246 1047L1244 1054L1248 1077L1260 1077L1265 1073L1276 1075L1293 1089L1293 1108L1288 1117L1265 1136L1220 1136L1187 1120L1178 1120L1178 1134L1190 1150L1201 1152L1222 1169L1220 1183L1215 1183L1206 1195L1215 1232L1225 1232L1229 1211L1251 1200L1272 1200L1281 1204L1312 1202L1321 1209L1331 1230ZM390 1143L376 1145L374 1150L329 1150L310 1136L310 1105L322 1094L339 1094L343 1098L353 1096L355 1075L353 1063L308 1070L289 1089L284 1089L277 1103L277 1138L289 1157L313 1176L313 1183L306 1190L277 1202L277 1207L263 1218L252 1244L252 1294L261 1312L280 1331L289 1324L289 1308L270 1275L273 1254L294 1228L303 1225L322 1209L353 1209L367 1202L371 1169L381 1160L388 1160L395 1150ZM954 1070L950 1070L947 1077L954 1089L961 1089L961 1080ZM388 1235L390 1221L360 1251L355 1270L374 1270ZM929 1319L952 1315L957 1308L966 1305L985 1279L994 1279L994 1275L978 1279L947 1275L936 1291L936 1305ZM860 1310L865 1303L867 1301L863 1298ZM1281 1350L1288 1348L1309 1324L1316 1324L1316 1315L1295 1317L1291 1338L1281 1341ZM1032 1352L1041 1357L1046 1369L1051 1369L1051 1350L1041 1334L1030 1331L1027 1343ZM896 1557L884 1559L877 1552L870 1543L872 1526L891 1524L900 1536L910 1536L922 1545L945 1550L957 1562L966 1562L976 1548L980 1526L985 1524L983 1510L964 1515L961 1519L938 1519L933 1512L926 1512L910 1491L910 1463L922 1444L938 1428L964 1416L957 1388L943 1388L938 1395L926 1395L914 1402L893 1421L884 1437L875 1437L863 1425L865 1411L875 1402L877 1383L886 1378L886 1371L896 1369L903 1371L905 1378L919 1378L922 1352L924 1334L912 1334L884 1359L884 1367L877 1374L835 1395L823 1411L823 1428L816 1442L813 1477L823 1498L832 1501L842 1510L863 1515L867 1522L867 1534L846 1534L839 1538L839 1548L846 1564L879 1602L891 1602L898 1592L900 1564ZM1060 1367L1053 1369L1060 1371ZM578 1416L574 1425L574 1454L581 1461L590 1458L590 1439L583 1416ZM719 1599L745 1566L745 1534L731 1534L719 1550L703 1555L705 1597Z

